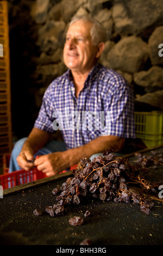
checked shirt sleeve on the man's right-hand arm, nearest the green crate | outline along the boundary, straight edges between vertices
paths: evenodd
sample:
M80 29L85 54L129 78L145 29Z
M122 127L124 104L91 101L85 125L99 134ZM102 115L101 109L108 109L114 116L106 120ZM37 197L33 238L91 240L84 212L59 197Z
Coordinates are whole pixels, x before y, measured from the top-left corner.
M134 97L121 75L114 76L106 100L106 126L103 135L135 138Z

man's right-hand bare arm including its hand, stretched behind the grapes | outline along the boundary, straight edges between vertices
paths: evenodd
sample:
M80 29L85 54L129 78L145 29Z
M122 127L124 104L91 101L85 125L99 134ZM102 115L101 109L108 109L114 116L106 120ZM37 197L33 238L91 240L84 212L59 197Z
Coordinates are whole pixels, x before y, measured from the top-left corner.
M104 152L106 148L121 150L124 141L124 138L112 135L102 136L78 148L40 156L34 163L38 170L46 173L47 176L52 176L77 164L80 159Z

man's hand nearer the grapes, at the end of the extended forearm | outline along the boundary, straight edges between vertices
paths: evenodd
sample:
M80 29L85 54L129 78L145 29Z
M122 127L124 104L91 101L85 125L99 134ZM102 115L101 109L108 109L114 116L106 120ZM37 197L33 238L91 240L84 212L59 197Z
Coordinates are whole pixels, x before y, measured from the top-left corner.
M67 154L64 151L39 156L34 161L34 164L38 170L46 173L47 176L52 176L70 167L66 155Z

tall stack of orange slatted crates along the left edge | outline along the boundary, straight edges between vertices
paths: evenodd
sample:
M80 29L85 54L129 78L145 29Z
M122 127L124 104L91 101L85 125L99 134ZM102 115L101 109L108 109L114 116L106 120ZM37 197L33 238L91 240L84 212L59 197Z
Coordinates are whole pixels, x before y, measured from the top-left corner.
M8 2L0 2L0 167L12 148Z

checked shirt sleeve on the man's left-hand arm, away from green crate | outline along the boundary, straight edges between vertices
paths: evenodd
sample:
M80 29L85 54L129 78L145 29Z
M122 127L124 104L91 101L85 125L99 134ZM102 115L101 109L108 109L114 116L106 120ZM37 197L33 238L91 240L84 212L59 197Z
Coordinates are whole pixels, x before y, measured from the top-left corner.
M39 111L39 115L35 120L34 127L48 133L54 133L55 131L52 127L54 121L53 112L54 109L52 106L51 93L50 89L47 88L45 94L43 95L42 105Z

